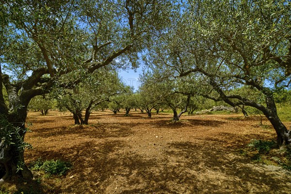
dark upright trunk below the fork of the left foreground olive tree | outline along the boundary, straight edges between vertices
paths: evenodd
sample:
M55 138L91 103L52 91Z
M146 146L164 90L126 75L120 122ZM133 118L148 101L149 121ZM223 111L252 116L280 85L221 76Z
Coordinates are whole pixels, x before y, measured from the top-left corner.
M21 99L17 96L17 93L13 91L16 90L8 92L11 113L8 113L6 105L2 102L0 108L2 119L1 127L6 130L6 135L9 135L7 133L10 133L11 136L10 139L7 139L7 136L6 138L1 137L0 163L4 165L6 172L5 176L0 179L0 182L4 182L6 179L9 179L16 174L24 179L32 179L33 177L32 172L24 161L24 136L26 133L25 121L29 101Z

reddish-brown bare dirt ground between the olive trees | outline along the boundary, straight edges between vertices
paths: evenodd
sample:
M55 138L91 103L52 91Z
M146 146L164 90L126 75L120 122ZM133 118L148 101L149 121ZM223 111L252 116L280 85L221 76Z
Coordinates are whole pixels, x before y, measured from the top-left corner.
M254 163L238 151L251 139L275 138L274 129L258 127L259 118L182 115L171 123L171 114L150 119L130 113L96 112L89 126L74 126L69 113L29 113L33 126L26 141L33 149L25 152L26 162L41 157L73 164L65 176L42 178L41 193L291 193L290 172Z

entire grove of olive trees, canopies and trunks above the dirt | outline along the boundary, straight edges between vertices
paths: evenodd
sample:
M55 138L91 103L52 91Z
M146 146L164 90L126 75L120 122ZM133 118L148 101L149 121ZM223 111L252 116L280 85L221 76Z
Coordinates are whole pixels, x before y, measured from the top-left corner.
M140 63L147 112L157 99L172 110L183 99L184 111L194 97L250 106L271 122L278 146L291 144L274 98L291 87L290 7L290 0L1 1L0 181L32 178L23 140L33 97L53 95L86 124L94 106L130 99L116 72Z

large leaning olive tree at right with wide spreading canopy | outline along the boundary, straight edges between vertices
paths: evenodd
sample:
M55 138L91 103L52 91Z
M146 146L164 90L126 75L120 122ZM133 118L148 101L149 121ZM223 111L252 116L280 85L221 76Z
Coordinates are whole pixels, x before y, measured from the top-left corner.
M291 132L277 115L274 93L291 85L291 21L288 0L189 1L175 24L157 36L148 59L177 79L204 78L205 97L261 111L277 133L278 146ZM264 101L236 93L257 90Z

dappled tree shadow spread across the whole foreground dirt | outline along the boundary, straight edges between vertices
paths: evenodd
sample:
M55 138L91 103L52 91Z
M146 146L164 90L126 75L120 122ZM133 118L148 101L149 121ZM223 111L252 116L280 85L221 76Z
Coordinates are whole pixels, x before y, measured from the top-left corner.
M73 168L61 186L47 193L97 194L287 194L290 181L215 143L167 144L156 159L130 151L125 141L89 140L58 151L39 150L44 160L61 159ZM44 188L47 189L47 188Z

